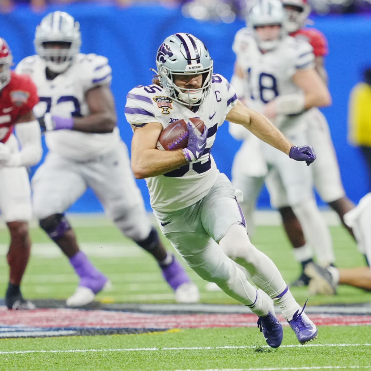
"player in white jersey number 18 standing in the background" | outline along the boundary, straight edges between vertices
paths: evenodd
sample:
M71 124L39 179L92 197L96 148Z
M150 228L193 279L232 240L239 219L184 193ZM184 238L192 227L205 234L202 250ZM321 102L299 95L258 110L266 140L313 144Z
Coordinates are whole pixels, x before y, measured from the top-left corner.
M329 105L331 97L315 70L311 45L288 36L285 20L278 0L261 0L251 9L248 27L237 32L233 43L232 85L247 106L271 118L288 138L300 144L309 141L308 109ZM289 205L321 265L333 263L331 235L312 192L312 172L287 161L237 125L230 124L230 132L244 139L233 162L232 183L244 193L241 207L247 219L252 220L265 180L272 206L281 211ZM295 230L296 224L291 225ZM302 246L302 234L294 232L290 232L293 246Z

